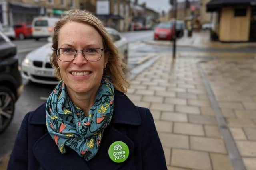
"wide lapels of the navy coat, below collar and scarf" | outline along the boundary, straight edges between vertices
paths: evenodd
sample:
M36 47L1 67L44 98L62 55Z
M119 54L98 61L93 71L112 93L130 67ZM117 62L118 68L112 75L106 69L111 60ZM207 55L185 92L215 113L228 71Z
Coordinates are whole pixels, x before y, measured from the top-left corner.
M114 127L107 128L103 135L100 150L96 156L88 162L68 147L66 147L66 154L61 154L48 133L35 143L33 152L41 166L47 170L75 170L81 167L83 167L84 170L117 170L121 167L122 170L130 169L129 167L134 164L132 156L134 154L134 143ZM129 148L129 156L127 160L122 163L113 162L108 156L108 148L115 141L122 141L126 143Z

